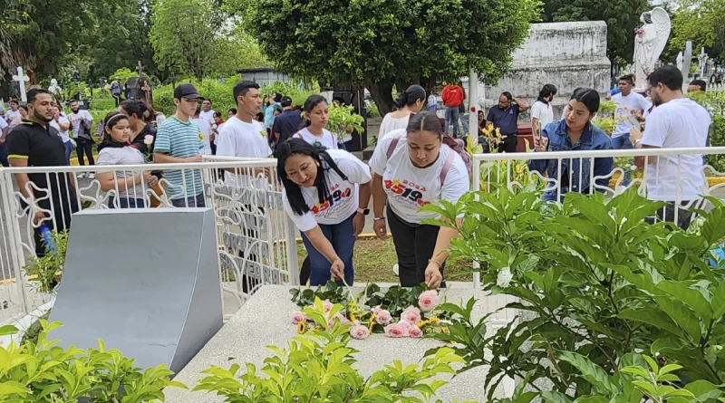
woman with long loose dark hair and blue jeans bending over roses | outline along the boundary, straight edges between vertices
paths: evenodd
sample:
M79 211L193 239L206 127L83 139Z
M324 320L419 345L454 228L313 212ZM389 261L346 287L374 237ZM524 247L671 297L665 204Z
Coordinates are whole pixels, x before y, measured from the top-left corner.
M353 248L371 196L370 169L342 149L288 139L275 151L285 211L302 232L310 285L354 281Z

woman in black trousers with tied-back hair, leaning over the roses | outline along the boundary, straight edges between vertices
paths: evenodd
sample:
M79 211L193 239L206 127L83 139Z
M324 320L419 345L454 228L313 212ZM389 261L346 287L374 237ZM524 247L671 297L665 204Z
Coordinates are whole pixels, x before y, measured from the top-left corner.
M442 132L435 113L412 115L407 129L391 131L370 160L375 234L387 237L387 214L404 287L445 286L446 250L457 231L421 224L439 215L420 207L440 200L456 203L469 191L468 169L459 154L443 144Z

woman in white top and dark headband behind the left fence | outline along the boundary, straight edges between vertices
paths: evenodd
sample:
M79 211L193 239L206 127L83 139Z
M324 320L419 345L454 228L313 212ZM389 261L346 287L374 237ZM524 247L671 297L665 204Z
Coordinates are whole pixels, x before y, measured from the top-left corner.
M98 146L97 165L144 164L146 161L143 154L131 144L129 116L113 111L103 121L105 136ZM109 197L109 208L143 208L146 206L145 189L156 186L159 179L149 171L110 171L99 172L98 181L102 191L115 193ZM144 182L148 187L143 185Z

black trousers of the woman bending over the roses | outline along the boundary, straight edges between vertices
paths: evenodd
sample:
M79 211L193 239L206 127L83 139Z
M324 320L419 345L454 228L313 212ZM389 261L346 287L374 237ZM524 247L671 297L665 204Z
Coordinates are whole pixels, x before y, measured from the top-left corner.
M403 287L415 287L425 283L425 269L433 257L440 226L411 224L396 216L388 206L388 225L391 227L392 243L398 255L398 277ZM446 264L440 266L444 275ZM445 276L444 276L445 278ZM440 283L441 287L446 282Z

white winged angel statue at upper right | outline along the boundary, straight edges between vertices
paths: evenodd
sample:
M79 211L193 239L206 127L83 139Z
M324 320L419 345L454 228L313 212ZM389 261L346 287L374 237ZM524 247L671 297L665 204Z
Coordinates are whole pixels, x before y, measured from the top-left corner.
M662 54L670 37L670 15L662 7L654 7L640 17L643 25L634 30L634 79L638 88L646 86L647 75L654 71L654 64Z

